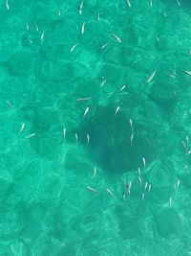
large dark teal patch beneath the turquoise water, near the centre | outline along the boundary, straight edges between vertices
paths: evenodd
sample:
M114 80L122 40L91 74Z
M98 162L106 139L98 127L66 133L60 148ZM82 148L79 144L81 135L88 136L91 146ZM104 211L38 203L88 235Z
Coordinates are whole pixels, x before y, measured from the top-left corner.
M113 107L97 106L92 118L85 118L73 131L78 134L79 142L90 152L96 161L109 175L138 170L142 167L142 157L147 163L156 158L157 149L151 138L152 133L144 125L136 123L131 144L132 128L130 120ZM90 136L87 144L86 134Z

